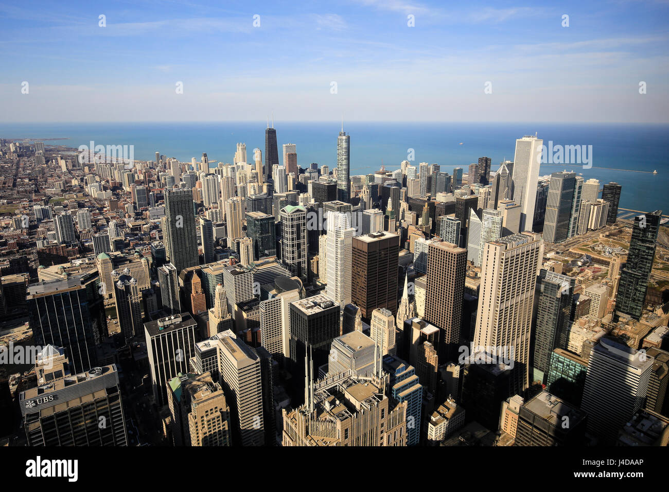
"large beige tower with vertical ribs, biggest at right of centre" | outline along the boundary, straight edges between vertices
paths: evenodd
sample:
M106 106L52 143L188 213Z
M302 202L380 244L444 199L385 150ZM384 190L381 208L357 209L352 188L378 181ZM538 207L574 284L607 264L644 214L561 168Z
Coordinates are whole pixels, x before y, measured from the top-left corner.
M543 256L541 234L523 232L489 242L484 248L478 315L473 345L494 347L514 361L512 392L529 386L530 333Z

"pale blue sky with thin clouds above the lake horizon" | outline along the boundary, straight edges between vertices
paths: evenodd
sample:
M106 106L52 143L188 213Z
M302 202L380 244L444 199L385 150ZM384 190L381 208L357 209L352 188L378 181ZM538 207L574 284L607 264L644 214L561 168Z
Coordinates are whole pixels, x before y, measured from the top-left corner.
M668 48L669 0L0 0L0 122L669 122Z

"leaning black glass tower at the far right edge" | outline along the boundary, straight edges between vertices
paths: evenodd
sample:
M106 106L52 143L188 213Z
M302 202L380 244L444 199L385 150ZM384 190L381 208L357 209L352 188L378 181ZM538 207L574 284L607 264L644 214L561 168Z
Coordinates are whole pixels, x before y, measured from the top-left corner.
M615 315L641 318L648 291L648 278L655 259L655 241L658 238L662 210L634 218L628 261L620 274Z

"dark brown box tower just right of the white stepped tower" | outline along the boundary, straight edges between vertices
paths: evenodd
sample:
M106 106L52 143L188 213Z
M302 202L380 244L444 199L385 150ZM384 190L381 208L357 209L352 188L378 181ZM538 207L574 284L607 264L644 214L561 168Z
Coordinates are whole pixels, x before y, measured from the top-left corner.
M397 313L399 236L385 231L355 236L352 251L351 302L363 319L371 319L377 308ZM329 258L327 265L330 270Z

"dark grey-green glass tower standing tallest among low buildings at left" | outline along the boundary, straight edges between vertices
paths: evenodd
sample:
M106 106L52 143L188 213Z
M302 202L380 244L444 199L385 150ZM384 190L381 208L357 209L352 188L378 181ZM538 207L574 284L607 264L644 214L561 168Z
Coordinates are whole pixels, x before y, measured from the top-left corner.
M165 227L169 261L177 273L199 264L193 193L189 189L165 189Z

